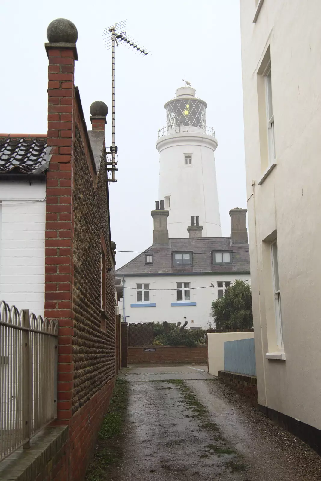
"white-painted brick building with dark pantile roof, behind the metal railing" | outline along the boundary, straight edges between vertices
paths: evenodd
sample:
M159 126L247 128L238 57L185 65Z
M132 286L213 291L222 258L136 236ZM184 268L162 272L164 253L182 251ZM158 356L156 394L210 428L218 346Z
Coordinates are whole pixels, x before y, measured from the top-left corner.
M47 136L0 138L0 299L44 316Z

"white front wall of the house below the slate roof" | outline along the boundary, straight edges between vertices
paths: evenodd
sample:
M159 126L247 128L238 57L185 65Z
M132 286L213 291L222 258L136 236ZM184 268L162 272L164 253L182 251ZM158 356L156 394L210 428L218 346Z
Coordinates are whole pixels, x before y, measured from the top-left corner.
M127 322L177 322L182 324L188 321L186 328L201 327L209 329L210 323L214 326L210 316L212 302L217 299L217 281L231 281L248 279L249 274L235 275L216 274L212 275L177 275L177 276L124 276L125 278L125 316ZM150 303L156 307L130 307L130 304L138 304L136 301L136 283L148 282L150 284ZM176 282L190 282L190 302L196 302L196 306L172 306L176 303ZM205 289L196 289L206 287ZM155 289L153 291L153 289ZM160 290L157 290L160 289ZM123 316L123 299L119 302L119 312ZM186 319L184 318L186 317ZM194 322L192 322L192 320Z

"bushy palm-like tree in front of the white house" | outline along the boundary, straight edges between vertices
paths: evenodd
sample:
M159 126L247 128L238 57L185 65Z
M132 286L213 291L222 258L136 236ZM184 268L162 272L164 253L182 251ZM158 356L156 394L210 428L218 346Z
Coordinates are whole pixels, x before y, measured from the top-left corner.
M246 281L236 279L221 299L212 303L216 329L253 328L252 294Z

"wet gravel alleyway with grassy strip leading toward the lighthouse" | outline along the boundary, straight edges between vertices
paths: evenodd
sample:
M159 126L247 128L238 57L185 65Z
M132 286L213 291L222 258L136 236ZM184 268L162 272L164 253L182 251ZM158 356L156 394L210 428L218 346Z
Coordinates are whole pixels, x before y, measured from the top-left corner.
M122 371L129 400L110 481L317 481L321 458L204 366Z

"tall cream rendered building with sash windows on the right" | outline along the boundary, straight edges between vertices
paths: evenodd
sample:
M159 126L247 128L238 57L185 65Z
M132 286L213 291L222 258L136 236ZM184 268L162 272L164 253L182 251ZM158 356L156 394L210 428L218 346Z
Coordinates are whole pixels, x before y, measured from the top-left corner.
M240 12L259 404L320 453L321 1Z

